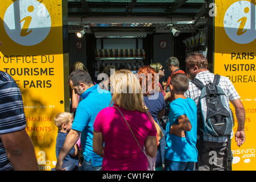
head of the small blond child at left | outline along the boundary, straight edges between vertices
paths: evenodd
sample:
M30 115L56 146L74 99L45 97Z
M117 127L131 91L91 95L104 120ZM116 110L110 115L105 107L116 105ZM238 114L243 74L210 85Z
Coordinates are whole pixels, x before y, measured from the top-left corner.
M62 113L58 113L55 116L54 123L58 127L59 130L63 130L63 126L64 127L71 126L71 123L73 122L73 120L74 120L73 114L71 114L69 112L62 112ZM68 127L65 129L67 131L69 131L71 129L71 127L70 128Z

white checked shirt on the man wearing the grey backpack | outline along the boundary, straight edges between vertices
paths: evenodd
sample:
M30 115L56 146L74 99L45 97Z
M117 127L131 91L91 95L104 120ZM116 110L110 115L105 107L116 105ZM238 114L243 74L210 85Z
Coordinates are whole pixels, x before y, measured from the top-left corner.
M197 74L195 76L198 80L200 80L204 85L212 83L214 80L214 74L209 71L203 71ZM222 88L222 90L226 93L227 97L229 98L229 101L234 101L240 98L239 94L237 93L237 90L235 90L234 85L229 80L229 78L221 76L221 79L219 80L219 86ZM185 97L192 98L195 101L195 104L197 104L198 99L200 97L201 90L197 88L192 82L189 82L189 89L185 92ZM229 103L229 101L227 101ZM231 132L231 138L233 137L233 130ZM226 142L227 137L212 137L207 134L203 134L203 139L211 142Z

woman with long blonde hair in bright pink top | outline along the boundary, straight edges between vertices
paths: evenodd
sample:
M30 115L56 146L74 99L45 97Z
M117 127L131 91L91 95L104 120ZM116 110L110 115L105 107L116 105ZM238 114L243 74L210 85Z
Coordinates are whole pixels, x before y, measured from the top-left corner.
M157 130L143 105L138 79L123 69L110 81L113 106L101 110L94 121L93 151L103 157L103 171L146 171L141 148L145 145L151 157L157 154Z

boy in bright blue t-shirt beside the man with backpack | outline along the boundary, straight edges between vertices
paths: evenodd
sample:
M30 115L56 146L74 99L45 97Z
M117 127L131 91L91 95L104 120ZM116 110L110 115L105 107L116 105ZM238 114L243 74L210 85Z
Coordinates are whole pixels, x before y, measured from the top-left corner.
M189 88L189 78L177 73L171 77L170 104L166 125L165 170L193 171L197 162L197 105L184 93Z

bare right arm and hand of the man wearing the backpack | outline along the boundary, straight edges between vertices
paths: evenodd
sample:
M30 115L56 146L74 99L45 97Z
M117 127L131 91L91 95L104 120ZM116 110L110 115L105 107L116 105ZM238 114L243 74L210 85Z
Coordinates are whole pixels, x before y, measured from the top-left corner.
M235 142L240 147L245 143L245 107L240 99L230 101L235 107L235 117L237 117L237 131L235 133Z

